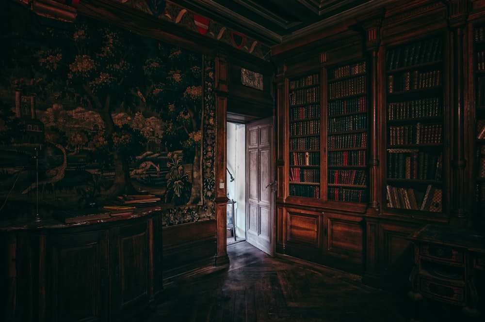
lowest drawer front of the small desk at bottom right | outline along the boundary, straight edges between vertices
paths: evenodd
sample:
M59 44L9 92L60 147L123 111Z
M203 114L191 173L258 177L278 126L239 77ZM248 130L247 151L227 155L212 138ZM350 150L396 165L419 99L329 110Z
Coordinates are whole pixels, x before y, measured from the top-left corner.
M436 300L464 305L466 302L465 285L451 285L420 276L420 292Z

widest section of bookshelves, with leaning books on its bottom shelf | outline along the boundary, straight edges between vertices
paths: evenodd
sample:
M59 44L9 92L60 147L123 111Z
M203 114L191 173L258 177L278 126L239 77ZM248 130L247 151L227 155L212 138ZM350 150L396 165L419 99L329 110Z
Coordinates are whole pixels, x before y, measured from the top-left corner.
M443 212L443 39L386 51L386 206Z

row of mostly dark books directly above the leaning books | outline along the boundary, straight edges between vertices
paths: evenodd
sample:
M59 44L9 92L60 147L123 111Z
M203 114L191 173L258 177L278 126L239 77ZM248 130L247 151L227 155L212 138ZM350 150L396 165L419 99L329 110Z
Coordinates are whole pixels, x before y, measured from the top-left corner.
M441 180L443 153L389 149L387 167L388 179Z

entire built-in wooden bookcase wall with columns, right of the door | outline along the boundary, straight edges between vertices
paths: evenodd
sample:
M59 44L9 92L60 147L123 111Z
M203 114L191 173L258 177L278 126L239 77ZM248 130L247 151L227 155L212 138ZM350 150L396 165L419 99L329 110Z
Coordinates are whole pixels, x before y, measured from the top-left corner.
M391 289L422 225L485 231L484 21L481 1L406 1L275 46L277 253ZM292 132L315 119L320 135Z

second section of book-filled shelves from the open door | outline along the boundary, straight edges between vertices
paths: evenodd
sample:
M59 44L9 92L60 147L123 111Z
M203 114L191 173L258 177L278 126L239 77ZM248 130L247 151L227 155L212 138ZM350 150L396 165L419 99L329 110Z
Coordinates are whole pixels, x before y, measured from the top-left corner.
M328 200L368 199L366 72L365 61L328 70Z

